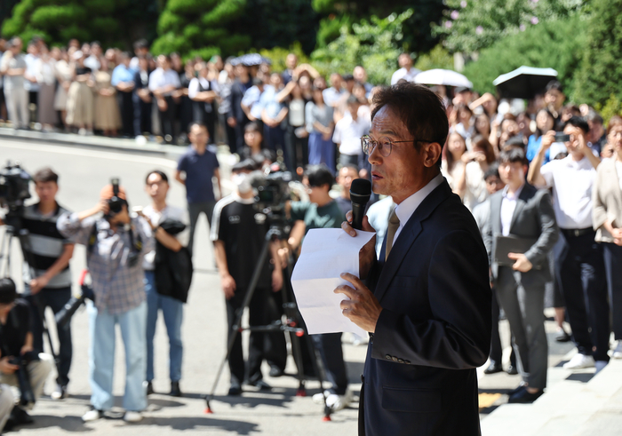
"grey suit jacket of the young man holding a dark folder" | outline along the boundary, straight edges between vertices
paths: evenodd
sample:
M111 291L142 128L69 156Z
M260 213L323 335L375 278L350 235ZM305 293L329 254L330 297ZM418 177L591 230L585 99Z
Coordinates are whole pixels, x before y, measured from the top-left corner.
M501 202L503 191L490 196L490 219L483 233L484 244L490 259L490 270L494 280L498 277L498 265L494 261L496 236L501 232ZM546 189L536 188L525 183L521 194L516 200L516 209L510 223L510 234L525 239L537 239L525 256L533 264L527 273L521 273L522 285L526 288L532 285L542 285L551 281L551 270L548 265L548 252L553 250L559 237L559 230L555 222L555 213L551 203L551 195Z

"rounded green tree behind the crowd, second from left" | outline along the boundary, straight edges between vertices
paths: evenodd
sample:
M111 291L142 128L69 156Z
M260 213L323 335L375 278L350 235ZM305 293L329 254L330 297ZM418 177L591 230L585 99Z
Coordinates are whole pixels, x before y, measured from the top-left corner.
M244 12L246 0L169 0L157 22L158 53L184 57L236 54L251 47L247 32L233 33L229 25Z

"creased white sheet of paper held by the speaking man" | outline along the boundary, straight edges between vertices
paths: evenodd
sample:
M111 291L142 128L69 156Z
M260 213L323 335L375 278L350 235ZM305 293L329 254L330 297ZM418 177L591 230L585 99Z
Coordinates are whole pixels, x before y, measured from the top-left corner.
M352 237L340 228L318 228L305 236L291 274L291 287L310 335L346 331L367 334L341 312L339 303L347 297L333 292L339 285L351 286L339 277L341 273L358 277L359 251L374 235L360 230L356 233Z

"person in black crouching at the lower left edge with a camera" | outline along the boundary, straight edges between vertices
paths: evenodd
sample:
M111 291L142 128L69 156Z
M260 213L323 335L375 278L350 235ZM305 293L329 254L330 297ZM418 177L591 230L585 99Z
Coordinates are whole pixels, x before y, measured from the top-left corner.
M31 409L44 392L44 384L52 371L52 356L33 350L28 302L17 298L15 283L0 279L0 384L20 388L20 401L12 408L10 425L31 424L25 408ZM0 423L6 418L4 402L8 395L0 394Z

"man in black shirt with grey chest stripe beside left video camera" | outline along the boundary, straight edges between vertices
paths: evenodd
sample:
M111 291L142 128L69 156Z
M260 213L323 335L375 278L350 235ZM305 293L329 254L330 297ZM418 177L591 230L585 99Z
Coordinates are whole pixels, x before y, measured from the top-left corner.
M56 201L59 192L59 176L51 168L36 171L33 176L35 192L39 202L26 206L20 213L19 226L28 230L28 240L22 249L25 253L23 278L24 295L30 303L33 346L36 353L44 352L44 320L46 307L59 313L71 298L71 271L69 260L74 253L74 244L64 238L56 223L68 210ZM4 224L0 220L0 224ZM31 276L34 274L34 276ZM67 396L69 369L71 368L71 330L69 325L57 329L60 342L58 378L52 392L53 400Z

